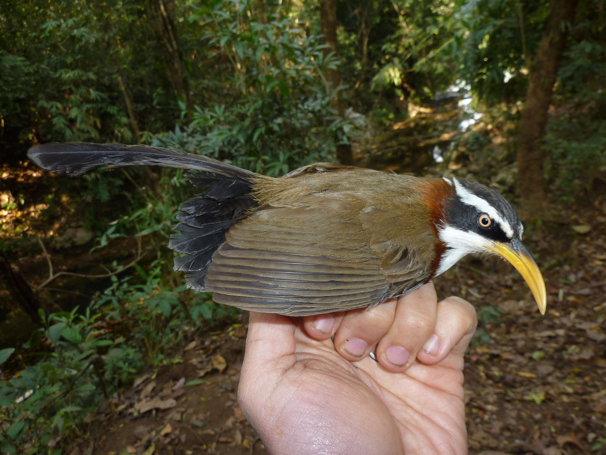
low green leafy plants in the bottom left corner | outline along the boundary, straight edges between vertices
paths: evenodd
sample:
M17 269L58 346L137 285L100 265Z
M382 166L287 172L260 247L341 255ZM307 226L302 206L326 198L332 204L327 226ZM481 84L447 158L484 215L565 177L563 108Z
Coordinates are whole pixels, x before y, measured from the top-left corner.
M40 317L44 326L33 332L27 347L44 342L52 352L0 382L2 453L52 453L54 444L49 442L72 431L102 399L103 391L118 385L118 368L141 366L139 354L122 347L124 339L110 340L95 328L99 314L90 309L48 316L41 310Z

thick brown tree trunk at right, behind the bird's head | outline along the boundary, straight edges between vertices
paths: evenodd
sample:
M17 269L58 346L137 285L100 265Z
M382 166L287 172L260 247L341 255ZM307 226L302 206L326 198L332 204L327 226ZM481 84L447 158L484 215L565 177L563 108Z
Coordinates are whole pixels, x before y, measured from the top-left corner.
M547 125L553 85L564 52L568 28L573 22L578 0L553 0L539 49L528 74L524 112L518 126L518 181L522 210L541 214L545 204L543 151L541 142Z

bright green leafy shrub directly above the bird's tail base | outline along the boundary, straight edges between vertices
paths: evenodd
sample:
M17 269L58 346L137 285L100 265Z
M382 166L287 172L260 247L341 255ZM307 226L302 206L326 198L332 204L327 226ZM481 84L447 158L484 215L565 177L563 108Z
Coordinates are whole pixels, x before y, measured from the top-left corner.
M231 63L230 86L238 96L229 104L195 106L186 127L156 136L153 144L178 145L273 176L333 160L336 144L359 126L351 111L341 118L330 107L334 91L324 70L337 61L324 58L319 36L290 18L252 19L247 13L254 4L215 1L190 17L215 25L206 39L218 49L214 59Z

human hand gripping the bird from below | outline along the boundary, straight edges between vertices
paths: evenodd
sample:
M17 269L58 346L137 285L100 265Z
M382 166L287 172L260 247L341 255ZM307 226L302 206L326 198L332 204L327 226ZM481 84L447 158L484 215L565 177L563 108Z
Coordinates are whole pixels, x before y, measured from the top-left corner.
M438 303L431 283L345 314L251 312L242 411L272 454L467 453L462 368L476 323L470 303Z

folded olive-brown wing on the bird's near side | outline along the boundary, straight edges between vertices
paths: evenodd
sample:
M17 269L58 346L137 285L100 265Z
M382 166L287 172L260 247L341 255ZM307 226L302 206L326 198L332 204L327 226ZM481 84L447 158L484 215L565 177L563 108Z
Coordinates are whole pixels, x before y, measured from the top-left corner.
M371 211L355 192L265 204L227 232L206 285L219 303L311 315L376 305L427 280L397 241L373 248Z

